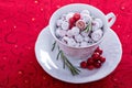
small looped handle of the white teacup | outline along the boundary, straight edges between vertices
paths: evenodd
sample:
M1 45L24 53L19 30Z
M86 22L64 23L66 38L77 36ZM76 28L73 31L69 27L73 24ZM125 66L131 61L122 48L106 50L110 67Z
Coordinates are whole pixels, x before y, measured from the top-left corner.
M116 15L114 13L110 12L106 15L107 21L108 21L108 26L111 28L113 23L116 22Z

